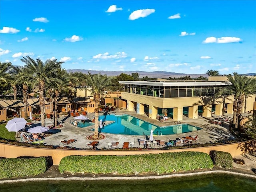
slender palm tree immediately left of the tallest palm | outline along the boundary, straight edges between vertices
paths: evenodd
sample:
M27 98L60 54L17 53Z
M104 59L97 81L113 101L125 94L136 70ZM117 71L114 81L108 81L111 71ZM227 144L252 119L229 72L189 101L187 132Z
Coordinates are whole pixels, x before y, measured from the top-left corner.
M20 84L22 84L22 94L23 94L23 103L24 103L24 118L28 118L28 85L30 84L30 79L26 74L29 73L27 68L24 67L14 67L16 71L16 79Z

